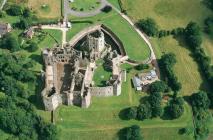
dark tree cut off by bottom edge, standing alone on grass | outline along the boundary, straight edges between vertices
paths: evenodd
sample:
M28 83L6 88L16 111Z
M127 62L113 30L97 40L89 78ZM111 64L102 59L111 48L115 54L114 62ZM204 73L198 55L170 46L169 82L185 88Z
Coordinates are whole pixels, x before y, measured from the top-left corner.
M125 140L143 140L141 136L141 129L138 125L133 125L126 128Z

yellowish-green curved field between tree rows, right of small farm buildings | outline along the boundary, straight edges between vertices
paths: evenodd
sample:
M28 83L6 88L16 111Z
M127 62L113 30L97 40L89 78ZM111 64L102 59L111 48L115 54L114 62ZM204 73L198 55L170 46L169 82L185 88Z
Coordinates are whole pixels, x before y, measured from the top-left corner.
M177 63L174 66L175 74L182 84L180 93L183 96L188 96L198 91L199 89L208 89L199 72L198 65L191 57L191 52L180 42L174 38L166 37L162 39L151 39L155 53L158 58L164 53L174 53Z

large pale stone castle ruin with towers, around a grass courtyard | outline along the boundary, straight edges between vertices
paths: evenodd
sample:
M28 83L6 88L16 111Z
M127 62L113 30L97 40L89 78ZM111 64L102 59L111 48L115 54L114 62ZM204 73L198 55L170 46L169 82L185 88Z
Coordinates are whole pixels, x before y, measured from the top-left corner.
M45 63L45 88L42 99L45 110L55 110L59 105L76 105L88 108L92 96L119 96L126 71L120 64L128 57L120 55L105 42L102 30L87 34L80 49L71 44L45 49L42 52ZM96 61L104 59L112 76L105 87L95 87L93 75Z

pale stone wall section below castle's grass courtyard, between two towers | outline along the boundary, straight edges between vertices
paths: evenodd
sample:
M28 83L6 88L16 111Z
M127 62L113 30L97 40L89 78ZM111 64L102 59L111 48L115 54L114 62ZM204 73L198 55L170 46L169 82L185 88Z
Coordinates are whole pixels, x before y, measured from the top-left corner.
M113 96L113 86L90 87L91 96L108 97Z

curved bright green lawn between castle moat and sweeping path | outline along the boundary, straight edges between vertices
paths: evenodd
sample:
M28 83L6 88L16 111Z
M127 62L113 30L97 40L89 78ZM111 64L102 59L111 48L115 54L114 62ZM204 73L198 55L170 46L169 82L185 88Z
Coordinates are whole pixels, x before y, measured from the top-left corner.
M126 52L130 59L137 61L146 60L150 56L150 50L143 39L138 35L138 33L129 25L129 23L124 20L115 11L108 14L102 13L90 18L76 18L71 17L72 21L82 21L81 25L78 26L77 30L74 28L74 32L77 33L88 26L88 21L93 24L102 23L110 28L123 42ZM90 23L90 24L92 24ZM72 32L72 29L70 30ZM69 37L74 35L74 33L68 33ZM69 38L68 38L69 39Z

